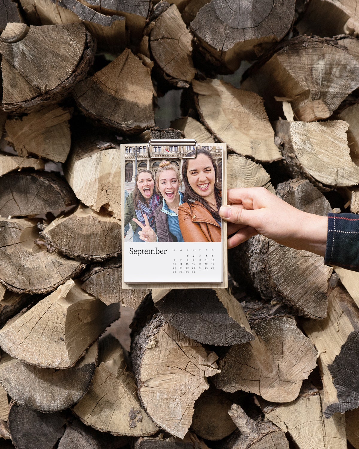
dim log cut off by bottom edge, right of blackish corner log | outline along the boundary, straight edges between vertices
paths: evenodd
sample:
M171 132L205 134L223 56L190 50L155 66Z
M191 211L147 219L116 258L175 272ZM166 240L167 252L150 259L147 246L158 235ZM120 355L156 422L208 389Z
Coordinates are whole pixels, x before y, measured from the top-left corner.
M66 422L66 430L57 449L119 449L127 447L127 441L127 437L104 434L71 419Z

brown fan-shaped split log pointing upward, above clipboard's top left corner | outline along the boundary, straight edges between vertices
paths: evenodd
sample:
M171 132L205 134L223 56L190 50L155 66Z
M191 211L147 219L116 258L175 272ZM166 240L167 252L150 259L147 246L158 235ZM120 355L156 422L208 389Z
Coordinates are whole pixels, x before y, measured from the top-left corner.
M78 83L73 95L84 114L121 132L133 134L154 126L150 71L128 48Z

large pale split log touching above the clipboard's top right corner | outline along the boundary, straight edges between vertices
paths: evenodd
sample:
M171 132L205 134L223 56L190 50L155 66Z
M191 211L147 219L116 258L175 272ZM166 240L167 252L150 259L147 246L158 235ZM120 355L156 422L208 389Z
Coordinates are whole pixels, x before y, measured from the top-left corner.
M202 123L228 149L259 161L282 158L261 97L219 79L193 80L192 85Z

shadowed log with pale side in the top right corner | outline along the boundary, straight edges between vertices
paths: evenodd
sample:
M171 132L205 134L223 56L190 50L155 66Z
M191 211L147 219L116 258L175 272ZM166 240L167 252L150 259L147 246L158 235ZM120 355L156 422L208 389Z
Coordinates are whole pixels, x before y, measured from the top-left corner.
M339 34L359 34L359 13L356 2L350 0L313 0L296 24L300 34L332 37ZM320 18L324 18L321 20Z

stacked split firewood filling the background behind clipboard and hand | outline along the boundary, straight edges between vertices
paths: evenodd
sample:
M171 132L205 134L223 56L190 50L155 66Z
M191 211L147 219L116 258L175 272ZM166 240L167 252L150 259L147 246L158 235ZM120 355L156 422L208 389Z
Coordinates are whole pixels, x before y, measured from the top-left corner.
M358 275L256 236L228 290L123 290L119 162L121 143L223 141L228 187L358 213L358 14L1 2L1 448L359 449ZM171 89L182 117L156 128ZM130 351L105 331L120 306Z

